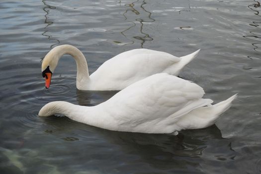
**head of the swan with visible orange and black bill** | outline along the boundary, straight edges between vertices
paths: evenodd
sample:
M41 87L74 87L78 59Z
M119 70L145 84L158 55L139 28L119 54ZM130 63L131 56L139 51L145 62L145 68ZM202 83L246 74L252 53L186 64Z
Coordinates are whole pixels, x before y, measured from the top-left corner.
M42 76L45 78L45 87L48 89L51 85L52 74L58 65L61 57L59 48L53 48L43 59L42 62Z

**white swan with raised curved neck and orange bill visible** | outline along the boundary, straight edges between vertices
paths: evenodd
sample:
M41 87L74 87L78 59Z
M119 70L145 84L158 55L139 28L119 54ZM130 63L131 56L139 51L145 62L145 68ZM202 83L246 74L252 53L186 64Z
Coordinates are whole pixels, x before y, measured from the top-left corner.
M43 59L42 75L46 88L50 87L52 73L64 54L72 55L77 64L76 87L80 90L121 90L134 82L157 73L177 76L180 70L198 54L199 50L183 57L169 53L134 49L123 52L104 62L89 76L83 53L72 45L53 48Z

